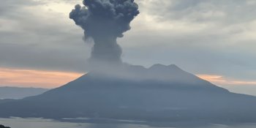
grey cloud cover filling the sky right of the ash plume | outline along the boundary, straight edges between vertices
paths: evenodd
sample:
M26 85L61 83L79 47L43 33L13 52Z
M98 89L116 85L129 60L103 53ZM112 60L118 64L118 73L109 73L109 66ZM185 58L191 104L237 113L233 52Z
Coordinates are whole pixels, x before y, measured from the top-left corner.
M174 63L189 72L255 80L255 4L197 0L138 3L141 15L137 20L144 22L135 22L133 33L121 39L125 61ZM127 43L130 39L137 43Z

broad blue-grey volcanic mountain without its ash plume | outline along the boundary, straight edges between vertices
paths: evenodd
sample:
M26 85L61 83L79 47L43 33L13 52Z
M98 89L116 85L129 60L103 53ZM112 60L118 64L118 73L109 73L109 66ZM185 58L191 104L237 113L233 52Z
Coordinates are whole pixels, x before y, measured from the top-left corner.
M234 94L176 65L89 72L35 97L3 102L1 117L256 121L256 97Z

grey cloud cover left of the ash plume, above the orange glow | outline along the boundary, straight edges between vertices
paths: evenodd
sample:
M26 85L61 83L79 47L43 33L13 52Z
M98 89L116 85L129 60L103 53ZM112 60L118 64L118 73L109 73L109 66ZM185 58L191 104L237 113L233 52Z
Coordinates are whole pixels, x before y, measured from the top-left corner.
M10 4L15 8L7 8L0 17L1 67L84 72L90 48L68 13L48 10L47 4L39 1L4 2L1 6ZM70 4L69 10L72 7Z

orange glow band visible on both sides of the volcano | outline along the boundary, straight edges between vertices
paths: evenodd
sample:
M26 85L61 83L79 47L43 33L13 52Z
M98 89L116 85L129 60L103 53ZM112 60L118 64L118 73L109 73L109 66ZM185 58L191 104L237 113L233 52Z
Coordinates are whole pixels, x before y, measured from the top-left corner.
M0 68L0 86L39 87L53 89L63 86L82 76L78 72L44 71L33 69ZM219 86L249 85L256 86L256 81L234 80L222 75L197 75Z

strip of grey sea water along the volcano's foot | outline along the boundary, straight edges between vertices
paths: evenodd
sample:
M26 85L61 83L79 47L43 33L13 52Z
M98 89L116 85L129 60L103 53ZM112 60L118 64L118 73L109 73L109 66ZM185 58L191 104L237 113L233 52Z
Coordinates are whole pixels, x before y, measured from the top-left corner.
M143 121L100 121L78 123L44 118L0 118L0 124L11 128L255 128L256 124L200 124L196 122L143 123ZM201 125L201 126L200 126Z

